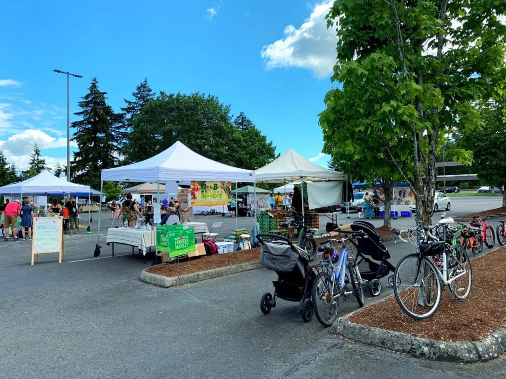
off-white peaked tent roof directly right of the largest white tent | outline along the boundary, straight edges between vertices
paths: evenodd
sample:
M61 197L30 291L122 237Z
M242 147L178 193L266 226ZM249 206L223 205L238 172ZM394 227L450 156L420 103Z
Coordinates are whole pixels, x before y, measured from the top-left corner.
M255 171L259 182L283 183L294 180L346 180L342 172L332 171L301 157L293 150L288 150L278 159Z

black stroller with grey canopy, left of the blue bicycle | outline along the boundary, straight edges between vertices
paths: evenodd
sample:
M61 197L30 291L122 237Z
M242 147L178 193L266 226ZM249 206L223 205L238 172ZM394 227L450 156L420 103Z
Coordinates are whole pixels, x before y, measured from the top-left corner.
M276 271L278 280L273 281L274 295L266 292L260 301L260 309L264 314L276 307L276 299L300 302L298 313L302 313L304 321L313 317L311 287L314 272L309 269L309 256L306 251L293 245L285 236L278 234L257 234L262 245L260 262L263 267Z

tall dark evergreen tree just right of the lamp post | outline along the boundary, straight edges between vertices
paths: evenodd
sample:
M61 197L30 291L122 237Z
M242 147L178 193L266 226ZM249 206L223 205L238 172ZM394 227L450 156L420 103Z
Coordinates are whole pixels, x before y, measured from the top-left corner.
M114 167L123 119L107 105L106 94L93 78L89 92L78 103L82 111L75 113L81 120L71 125L76 130L72 140L79 148L71 162L72 178L95 188L100 185L101 171Z

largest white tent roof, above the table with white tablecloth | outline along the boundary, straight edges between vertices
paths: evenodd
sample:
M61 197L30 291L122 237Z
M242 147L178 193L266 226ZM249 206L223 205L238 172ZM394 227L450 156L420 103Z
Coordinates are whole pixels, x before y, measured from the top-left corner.
M182 179L253 182L255 171L202 157L180 141L144 161L102 170L102 180L163 182Z

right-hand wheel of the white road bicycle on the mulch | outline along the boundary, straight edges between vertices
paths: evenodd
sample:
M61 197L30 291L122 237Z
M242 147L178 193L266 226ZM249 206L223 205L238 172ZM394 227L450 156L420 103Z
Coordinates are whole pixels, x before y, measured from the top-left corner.
M448 254L448 280L456 277L448 284L453 297L458 300L466 300L471 293L473 285L473 270L468 254L460 245L450 247ZM459 276L460 275L460 276Z

